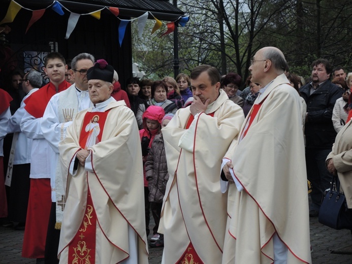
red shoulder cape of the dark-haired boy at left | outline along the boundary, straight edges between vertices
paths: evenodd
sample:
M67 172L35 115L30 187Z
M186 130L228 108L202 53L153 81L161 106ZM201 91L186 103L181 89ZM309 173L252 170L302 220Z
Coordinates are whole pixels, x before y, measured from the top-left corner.
M70 83L63 80L58 86L58 91L61 92L71 86ZM50 98L56 93L56 87L49 82L47 85L40 88L34 94L28 96L24 103L26 104L24 109L35 118L43 117L46 106L48 105Z

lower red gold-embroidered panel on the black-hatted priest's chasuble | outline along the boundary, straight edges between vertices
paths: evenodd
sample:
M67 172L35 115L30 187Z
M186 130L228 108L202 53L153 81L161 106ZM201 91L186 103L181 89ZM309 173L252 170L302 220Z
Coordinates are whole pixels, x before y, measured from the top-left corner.
M97 214L88 188L87 206L84 212L83 222L74 239L69 244L68 263L95 263L95 228L97 226Z

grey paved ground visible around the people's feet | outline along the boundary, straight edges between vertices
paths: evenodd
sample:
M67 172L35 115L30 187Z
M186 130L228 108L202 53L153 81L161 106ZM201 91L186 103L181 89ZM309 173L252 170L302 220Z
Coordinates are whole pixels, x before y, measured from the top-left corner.
M0 263L36 263L34 259L21 257L22 240L23 231L0 226ZM352 263L352 255L332 253L336 250L343 251L342 253L352 253L352 237L349 230L334 230L319 224L317 218L310 218L310 240L313 247L312 260L314 264ZM150 248L149 263L161 263L162 253L162 248Z

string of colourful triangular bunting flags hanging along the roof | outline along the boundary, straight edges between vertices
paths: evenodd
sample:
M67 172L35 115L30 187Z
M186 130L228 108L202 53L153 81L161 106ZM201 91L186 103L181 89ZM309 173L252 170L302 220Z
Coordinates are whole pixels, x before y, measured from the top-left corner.
M117 7L103 7L101 9L99 9L99 10L95 10L95 11L90 12L90 13L77 14L77 13L71 12L69 9L67 9L65 6L63 6L60 2L58 2L56 0L53 1L53 3L51 5L49 5L48 7L46 7L45 9L40 9L40 10L31 10L31 9L25 8L25 7L21 6L20 4L18 4L17 2L15 2L14 0L11 0L9 8L7 10L7 13L6 13L6 16L0 22L0 25L1 24L5 24L5 23L12 23L14 21L15 17L17 16L18 12L21 9L25 9L25 10L28 10L28 11L32 12L32 17L29 20L27 28L26 28L26 31L25 31L25 33L27 33L29 27L31 25L33 25L35 22L37 22L44 15L45 11L48 8L51 8L53 11L55 11L57 14L59 14L61 16L65 14L63 9L65 9L68 12L70 12L70 17L69 17L69 20L68 20L68 25L67 25L67 31L66 31L65 39L69 39L70 38L70 35L71 35L72 31L75 29L80 16L90 15L90 16L96 18L96 19L100 19L101 12L102 12L103 9L108 9L115 17L117 17L119 15L119 9ZM118 39L119 39L120 46L122 45L122 41L123 41L123 38L124 38L126 26L130 22L132 22L134 20L138 21L138 34L139 34L140 38L142 37L142 34L143 34L143 31L144 31L145 25L147 23L147 19L148 19L148 15L149 14L155 20L154 27L151 30L151 34L153 34L156 30L158 30L159 28L162 27L163 23L160 20L158 20L149 11L146 11L143 15L141 15L139 17L136 17L136 18L133 18L133 19L130 19L130 20L120 19L119 17L117 17L120 20L120 24L119 24L119 27L118 27ZM185 26L186 23L188 22L188 20L189 20L189 16L185 16L185 17L181 17L180 16L175 21L167 23L166 24L167 30L163 34L161 34L160 37L163 37L163 36L168 35L171 32L173 32L175 30L175 26L177 24L181 25L181 26Z

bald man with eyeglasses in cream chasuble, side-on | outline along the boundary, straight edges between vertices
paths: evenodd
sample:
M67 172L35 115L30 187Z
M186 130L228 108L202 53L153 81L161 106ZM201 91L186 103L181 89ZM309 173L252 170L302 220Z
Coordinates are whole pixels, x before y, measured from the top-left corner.
M222 263L311 263L302 104L285 69L275 47L249 67L263 88L222 160L231 205Z

